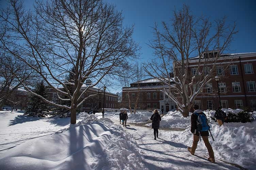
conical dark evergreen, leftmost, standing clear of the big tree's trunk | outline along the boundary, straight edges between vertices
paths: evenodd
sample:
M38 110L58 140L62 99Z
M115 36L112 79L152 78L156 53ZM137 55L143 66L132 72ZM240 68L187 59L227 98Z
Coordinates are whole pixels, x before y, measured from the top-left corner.
M36 84L34 92L43 96L44 98L48 97L43 81ZM43 99L35 95L31 95L29 99L29 106L25 109L24 115L33 117L46 117L47 114L49 114L48 104Z

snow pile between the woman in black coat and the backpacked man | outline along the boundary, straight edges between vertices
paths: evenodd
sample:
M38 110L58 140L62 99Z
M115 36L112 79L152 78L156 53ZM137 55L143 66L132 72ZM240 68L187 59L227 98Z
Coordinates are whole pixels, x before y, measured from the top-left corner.
M160 121L160 127L172 127L172 128L187 128L190 126L190 116L183 117L179 111L168 112L162 117Z

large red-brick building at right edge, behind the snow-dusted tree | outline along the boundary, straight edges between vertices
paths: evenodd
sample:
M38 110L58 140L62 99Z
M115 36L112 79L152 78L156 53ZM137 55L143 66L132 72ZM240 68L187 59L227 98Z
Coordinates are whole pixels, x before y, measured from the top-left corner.
M209 54L210 55L210 54ZM208 59L206 70L211 69ZM196 74L198 57L189 60L190 76ZM219 90L222 108L248 108L256 110L256 53L223 54L217 60L213 77L219 76ZM195 104L201 109L219 107L218 84L213 79L196 97Z

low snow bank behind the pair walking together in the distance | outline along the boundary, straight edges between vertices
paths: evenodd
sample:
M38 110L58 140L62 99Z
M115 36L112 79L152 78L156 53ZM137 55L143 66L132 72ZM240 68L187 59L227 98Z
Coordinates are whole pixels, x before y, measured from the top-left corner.
M108 112L104 114L104 117L119 120L119 113L120 112ZM153 112L149 111L138 111L137 113L127 113L128 120L127 122L142 122L142 121L148 121L151 117Z

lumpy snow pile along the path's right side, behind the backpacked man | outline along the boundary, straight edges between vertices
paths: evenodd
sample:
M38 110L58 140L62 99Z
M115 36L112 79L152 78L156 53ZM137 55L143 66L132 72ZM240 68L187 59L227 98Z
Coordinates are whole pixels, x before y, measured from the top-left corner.
M256 168L256 121L251 123L225 123L223 126L211 124L211 132L215 139L209 136L215 158L238 164L248 169ZM183 141L191 146L193 134L190 128L179 134L171 134L171 138ZM207 153L204 142L198 142L196 154ZM201 153L200 153L201 154ZM207 155L208 156L208 155Z

